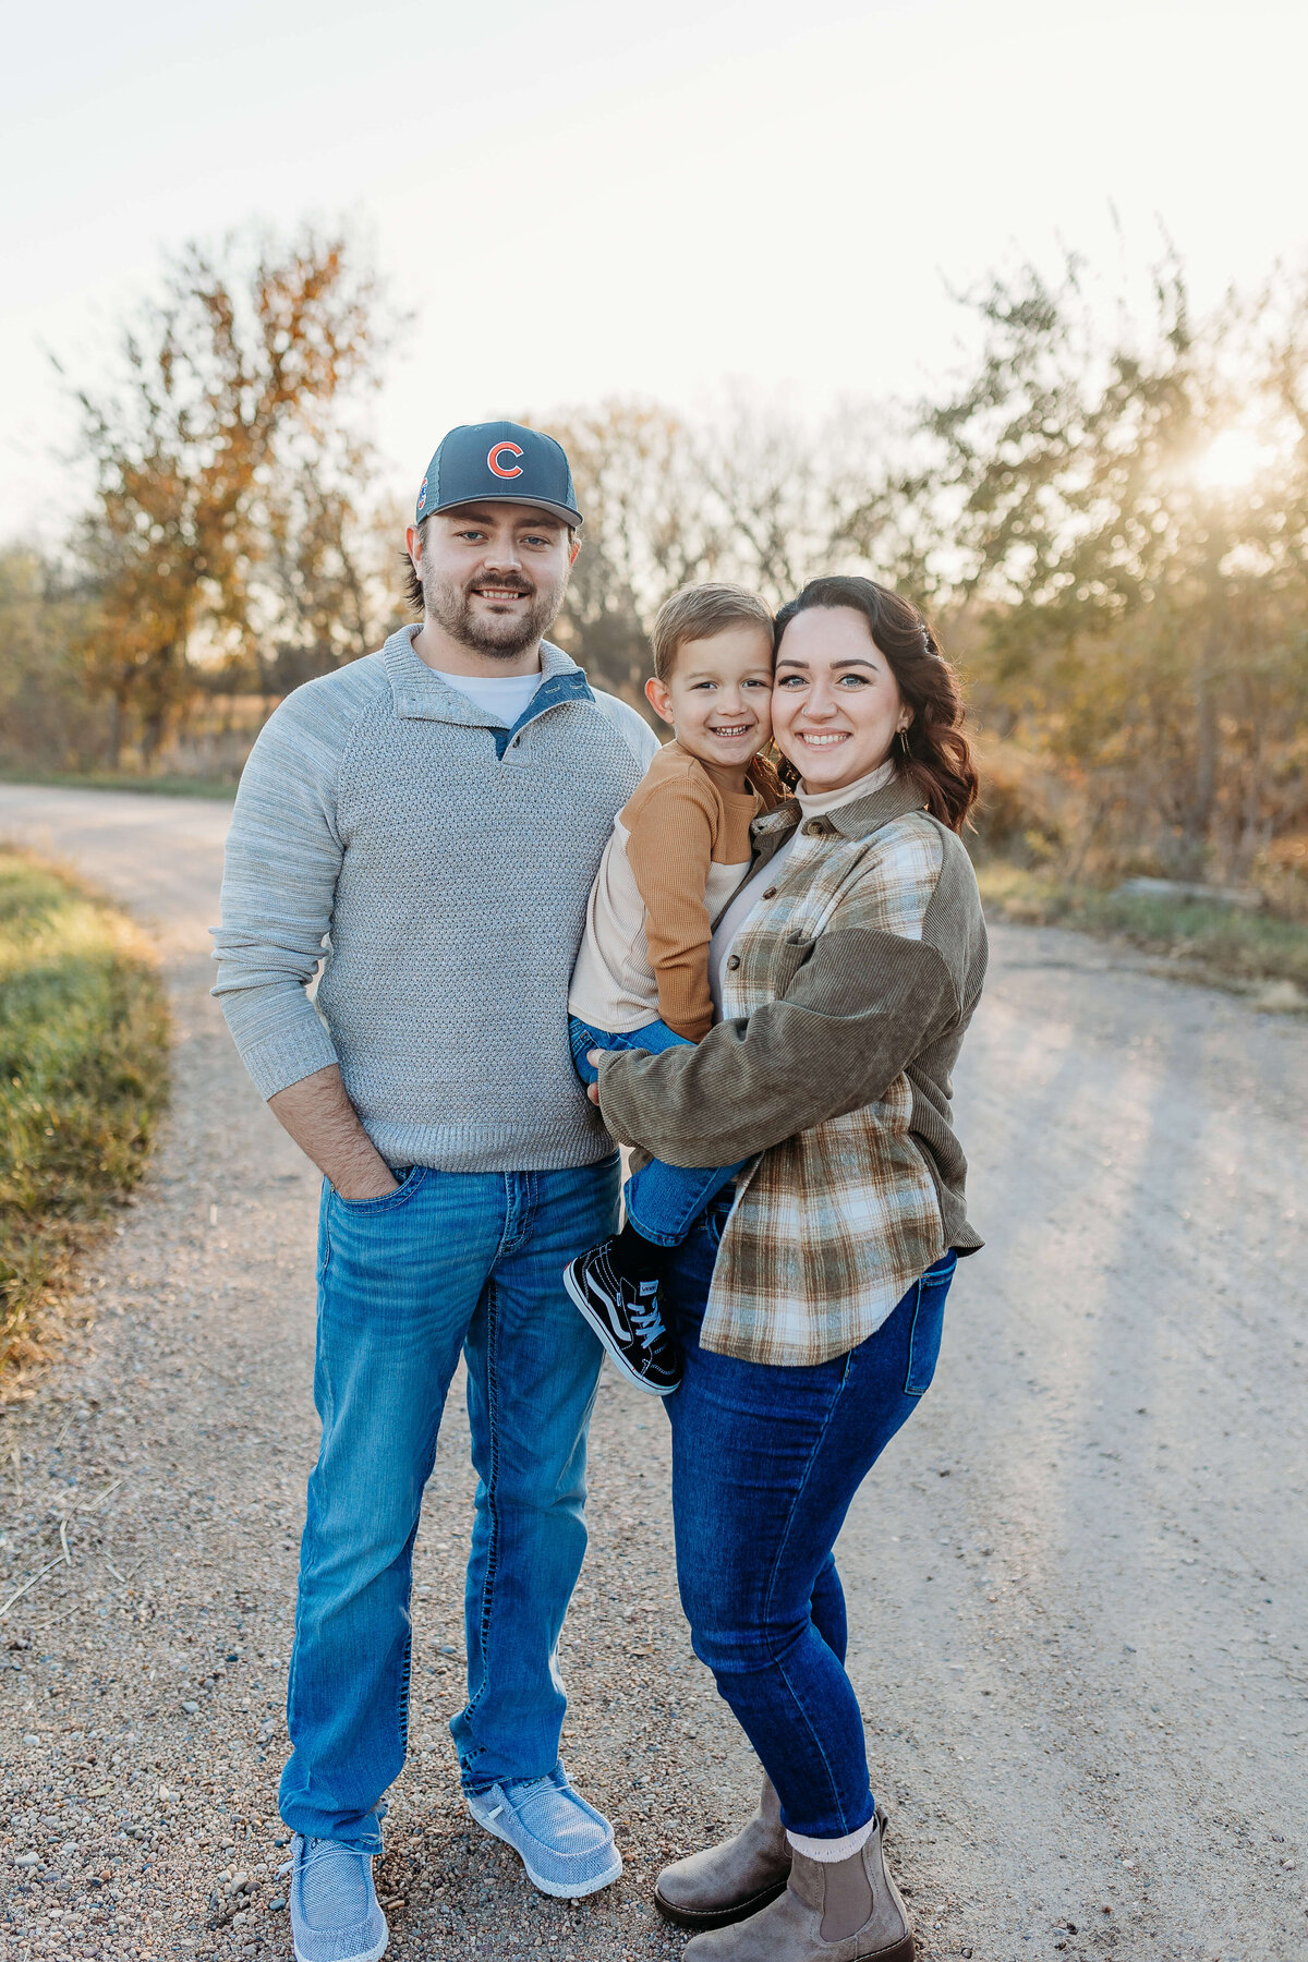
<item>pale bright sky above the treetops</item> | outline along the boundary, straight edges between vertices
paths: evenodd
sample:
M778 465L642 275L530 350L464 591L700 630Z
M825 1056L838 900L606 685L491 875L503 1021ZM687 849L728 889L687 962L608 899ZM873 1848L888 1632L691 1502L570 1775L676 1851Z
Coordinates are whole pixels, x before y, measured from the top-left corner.
M94 383L161 253L249 220L347 218L414 310L402 490L482 416L916 394L947 284L1020 255L1139 281L1165 230L1200 302L1308 263L1304 0L8 0L2 35L0 538L82 496L49 351Z

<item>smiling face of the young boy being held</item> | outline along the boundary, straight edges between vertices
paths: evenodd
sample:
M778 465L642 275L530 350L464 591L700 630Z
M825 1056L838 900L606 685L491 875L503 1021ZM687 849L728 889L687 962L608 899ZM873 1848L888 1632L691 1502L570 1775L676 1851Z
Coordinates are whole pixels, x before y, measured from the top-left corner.
M684 640L667 681L645 695L702 763L739 769L773 734L773 636L753 620L710 640Z

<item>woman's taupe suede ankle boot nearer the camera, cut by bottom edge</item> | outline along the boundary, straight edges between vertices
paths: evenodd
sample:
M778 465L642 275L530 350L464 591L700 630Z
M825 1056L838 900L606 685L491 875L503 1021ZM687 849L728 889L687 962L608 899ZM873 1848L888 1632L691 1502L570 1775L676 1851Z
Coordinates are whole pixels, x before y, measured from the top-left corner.
M763 1913L696 1935L686 1962L914 1962L900 1889L886 1874L877 1819L849 1860L792 1854L786 1891Z

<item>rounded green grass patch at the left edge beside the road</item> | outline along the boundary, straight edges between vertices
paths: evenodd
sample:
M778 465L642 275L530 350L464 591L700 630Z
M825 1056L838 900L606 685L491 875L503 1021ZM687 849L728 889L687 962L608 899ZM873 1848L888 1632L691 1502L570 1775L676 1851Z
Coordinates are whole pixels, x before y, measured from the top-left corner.
M147 942L0 850L0 1368L37 1360L69 1262L141 1177L169 1091Z

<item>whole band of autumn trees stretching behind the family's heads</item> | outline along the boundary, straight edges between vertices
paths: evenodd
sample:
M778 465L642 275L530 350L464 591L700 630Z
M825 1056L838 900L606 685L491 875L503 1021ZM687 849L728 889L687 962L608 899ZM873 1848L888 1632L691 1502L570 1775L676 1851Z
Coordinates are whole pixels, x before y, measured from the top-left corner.
M67 553L0 553L0 763L159 767L224 691L239 751L406 616L404 512L361 420L394 328L345 237L169 269L118 385L80 396L96 494ZM931 396L822 426L749 394L541 416L586 514L557 638L639 702L679 585L780 602L871 571L963 661L982 848L1257 877L1308 910L1308 283L1196 318L1171 263L1143 312L1075 261L1026 267L965 302L965 337ZM439 434L414 434L410 473Z

